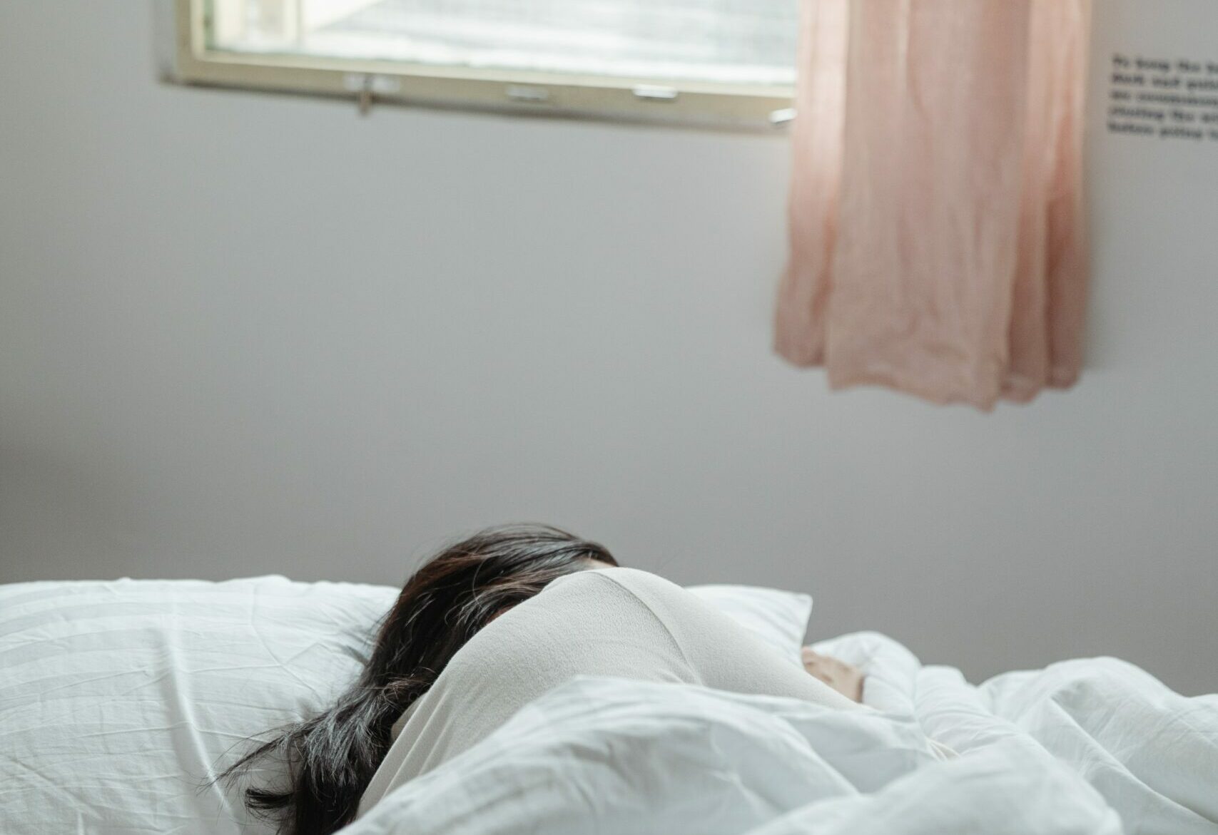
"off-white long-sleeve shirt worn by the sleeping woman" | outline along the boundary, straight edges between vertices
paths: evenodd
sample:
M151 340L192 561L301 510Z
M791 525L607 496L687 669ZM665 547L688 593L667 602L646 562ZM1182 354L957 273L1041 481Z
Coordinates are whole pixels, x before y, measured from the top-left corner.
M393 742L356 817L580 674L681 682L866 710L663 577L637 568L581 571L559 577L495 618L453 655L435 684L393 724Z

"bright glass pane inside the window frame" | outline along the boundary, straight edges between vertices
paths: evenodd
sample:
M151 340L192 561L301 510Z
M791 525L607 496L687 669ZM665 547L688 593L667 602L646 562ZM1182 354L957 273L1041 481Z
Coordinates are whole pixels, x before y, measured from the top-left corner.
M655 82L792 84L795 0L214 0L211 45Z

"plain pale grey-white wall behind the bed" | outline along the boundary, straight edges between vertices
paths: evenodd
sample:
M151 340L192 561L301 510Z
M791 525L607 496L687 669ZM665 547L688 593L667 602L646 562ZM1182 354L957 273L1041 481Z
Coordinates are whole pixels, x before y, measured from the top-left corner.
M1212 0L1106 52L1218 60ZM985 416L770 352L777 136L161 85L130 0L0 4L0 582L400 583L548 520L971 676L1218 689L1218 144L1093 135L1091 366Z

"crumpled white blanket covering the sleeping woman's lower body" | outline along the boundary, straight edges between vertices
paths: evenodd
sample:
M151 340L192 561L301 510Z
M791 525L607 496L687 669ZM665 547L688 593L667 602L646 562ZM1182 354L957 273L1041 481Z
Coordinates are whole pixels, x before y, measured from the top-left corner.
M816 648L875 712L581 677L343 833L1218 835L1218 696L1114 659L973 687L877 633Z

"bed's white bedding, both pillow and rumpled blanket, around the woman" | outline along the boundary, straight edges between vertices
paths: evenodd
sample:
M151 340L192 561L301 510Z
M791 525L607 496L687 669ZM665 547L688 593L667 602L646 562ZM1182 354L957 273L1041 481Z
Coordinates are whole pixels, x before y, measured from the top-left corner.
M799 663L808 595L692 590ZM0 585L0 833L273 831L211 778L326 705L396 593L280 576ZM875 710L581 677L345 833L1218 835L1216 696L1116 659L973 685L877 633L816 646L864 667Z

